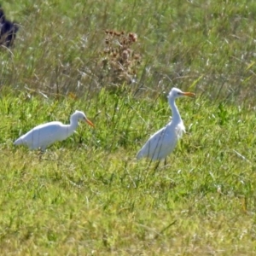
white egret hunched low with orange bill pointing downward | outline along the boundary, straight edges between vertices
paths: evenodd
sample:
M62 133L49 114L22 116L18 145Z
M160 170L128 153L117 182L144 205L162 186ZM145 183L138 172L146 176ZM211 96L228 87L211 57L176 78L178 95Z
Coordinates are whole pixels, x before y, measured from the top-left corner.
M63 125L61 122L49 122L44 125L38 125L25 135L22 135L15 141L15 145L26 145L30 149L40 148L45 150L49 145L57 141L63 141L70 137L79 125L79 119L84 119L90 126L93 123L87 119L84 112L76 110L70 117L70 124Z

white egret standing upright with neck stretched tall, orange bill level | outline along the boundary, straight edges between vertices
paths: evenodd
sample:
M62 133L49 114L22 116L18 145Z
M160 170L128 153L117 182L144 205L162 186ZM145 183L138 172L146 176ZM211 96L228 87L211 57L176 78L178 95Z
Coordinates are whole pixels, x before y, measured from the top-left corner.
M177 140L182 137L183 131L185 131L183 120L175 104L175 99L181 96L191 97L195 96L195 93L183 92L177 88L172 88L168 96L168 102L172 108L172 121L148 139L148 142L137 153L137 160L143 157L148 157L151 160L162 160L172 153Z

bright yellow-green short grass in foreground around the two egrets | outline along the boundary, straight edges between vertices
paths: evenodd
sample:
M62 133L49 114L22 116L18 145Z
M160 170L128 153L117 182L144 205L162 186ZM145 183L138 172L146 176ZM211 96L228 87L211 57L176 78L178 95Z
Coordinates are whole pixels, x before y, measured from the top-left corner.
M242 106L212 106L200 96L177 100L188 132L167 166L162 163L154 172L154 165L135 156L168 121L167 102L152 106L149 98L108 92L98 97L101 101L96 97L86 109L96 129L80 124L43 156L15 148L12 140L57 116L68 122L67 109L84 110L86 103L32 97L22 106L31 116L27 123L19 97L9 113L2 112L4 252L19 247L22 253L56 253L58 248L66 254L79 247L80 253L238 255L253 248L255 139L247 125L253 124L253 113ZM153 109L144 111L147 106Z

